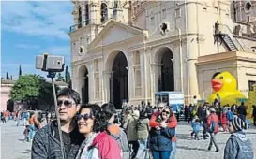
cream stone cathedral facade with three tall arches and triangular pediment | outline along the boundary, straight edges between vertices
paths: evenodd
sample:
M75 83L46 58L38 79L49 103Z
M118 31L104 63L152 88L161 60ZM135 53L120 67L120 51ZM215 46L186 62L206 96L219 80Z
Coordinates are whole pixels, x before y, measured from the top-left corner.
M155 103L158 91L211 94L229 71L256 82L255 1L73 1L72 87L83 103Z

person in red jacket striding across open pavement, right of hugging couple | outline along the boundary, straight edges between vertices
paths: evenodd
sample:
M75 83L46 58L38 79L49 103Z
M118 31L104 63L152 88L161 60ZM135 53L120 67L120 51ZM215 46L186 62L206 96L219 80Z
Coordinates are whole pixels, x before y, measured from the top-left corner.
M208 151L211 150L212 145L214 144L216 148L215 152L218 152L219 149L216 141L216 135L218 133L218 115L216 115L215 108L210 108L210 115L207 117L207 125L210 133L210 143L208 146Z

